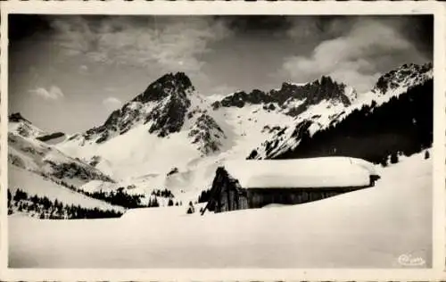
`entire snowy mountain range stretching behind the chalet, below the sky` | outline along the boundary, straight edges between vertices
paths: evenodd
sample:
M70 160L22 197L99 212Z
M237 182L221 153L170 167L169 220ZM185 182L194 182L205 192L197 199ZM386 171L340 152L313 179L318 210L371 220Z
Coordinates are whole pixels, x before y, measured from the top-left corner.
M431 63L406 64L378 79L368 93L323 76L269 91L208 96L198 93L185 73L168 73L111 112L102 125L47 148L88 171L110 175L117 183L107 187L136 185L136 191L146 193L168 188L186 201L186 195L195 198L209 187L219 163L275 158L293 150L303 135L334 127L364 105L377 108L432 78ZM47 135L17 125L10 130L16 139L23 137L19 131L29 132L28 142ZM98 189L107 182L89 179L99 180L93 182Z

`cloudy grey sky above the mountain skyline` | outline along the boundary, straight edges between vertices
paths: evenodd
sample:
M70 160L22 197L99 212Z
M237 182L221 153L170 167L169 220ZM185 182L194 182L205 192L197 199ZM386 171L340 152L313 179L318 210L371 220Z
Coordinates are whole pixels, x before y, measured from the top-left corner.
M431 62L429 16L11 15L9 108L67 133L167 72L203 95L268 90L321 75L367 91L403 63Z

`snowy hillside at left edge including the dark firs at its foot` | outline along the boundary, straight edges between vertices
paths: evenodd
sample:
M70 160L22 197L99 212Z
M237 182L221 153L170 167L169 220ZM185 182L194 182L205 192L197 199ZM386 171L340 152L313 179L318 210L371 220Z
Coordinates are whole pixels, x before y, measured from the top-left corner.
M57 150L48 134L20 113L9 117L8 214L41 219L119 216L125 209L81 193L92 180L113 184L102 171Z

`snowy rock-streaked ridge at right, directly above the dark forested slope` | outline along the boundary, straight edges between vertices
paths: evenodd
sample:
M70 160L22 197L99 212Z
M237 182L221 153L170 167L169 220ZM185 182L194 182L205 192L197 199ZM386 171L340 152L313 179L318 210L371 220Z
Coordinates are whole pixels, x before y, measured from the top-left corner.
M432 63L404 64L396 70L385 73L377 80L371 91L358 95L351 104L345 107L332 106L326 104L326 101L322 101L314 109L303 112L291 126L285 126L273 132L267 140L250 153L249 158L277 158L285 152L293 151L300 144L304 135L311 137L320 130L335 127L352 112L359 111L364 106L369 106L369 112L373 112L374 108L389 102L392 98L397 98L407 92L410 87L423 85L430 79L433 79ZM398 115L399 113L394 112L393 114ZM392 117L389 118L392 119Z

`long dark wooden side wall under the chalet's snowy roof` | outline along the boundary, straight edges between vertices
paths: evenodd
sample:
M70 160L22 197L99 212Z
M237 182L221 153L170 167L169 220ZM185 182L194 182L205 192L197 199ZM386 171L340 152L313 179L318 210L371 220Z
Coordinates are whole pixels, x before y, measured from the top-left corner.
M365 187L249 188L248 206L257 209L270 203L309 203L362 188Z

